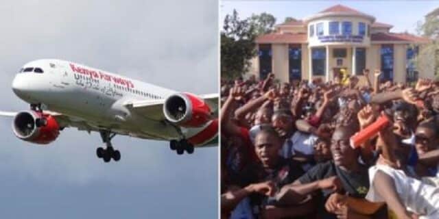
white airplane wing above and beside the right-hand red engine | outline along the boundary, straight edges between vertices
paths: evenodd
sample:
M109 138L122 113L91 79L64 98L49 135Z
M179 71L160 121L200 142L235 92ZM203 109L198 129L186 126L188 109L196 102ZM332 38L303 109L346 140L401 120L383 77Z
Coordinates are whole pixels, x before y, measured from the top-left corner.
M217 116L218 94L204 94L199 97L211 107L213 116ZM163 105L165 104L165 101L166 99L127 101L124 105L133 112L147 118L153 120L165 120L165 114L163 114Z

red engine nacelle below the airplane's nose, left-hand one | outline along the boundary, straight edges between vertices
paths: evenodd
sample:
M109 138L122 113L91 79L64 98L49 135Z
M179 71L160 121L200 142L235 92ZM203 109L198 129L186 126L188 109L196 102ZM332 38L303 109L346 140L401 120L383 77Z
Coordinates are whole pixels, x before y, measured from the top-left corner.
M60 134L60 126L54 117L36 111L16 114L12 122L12 130L21 140L36 144L49 144Z

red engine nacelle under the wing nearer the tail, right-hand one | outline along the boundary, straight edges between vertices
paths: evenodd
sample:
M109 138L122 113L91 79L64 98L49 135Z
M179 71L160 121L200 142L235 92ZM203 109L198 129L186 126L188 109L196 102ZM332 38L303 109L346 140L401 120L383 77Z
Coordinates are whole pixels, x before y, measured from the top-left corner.
M209 105L189 93L169 96L163 105L163 113L171 123L182 127L201 127L212 120Z

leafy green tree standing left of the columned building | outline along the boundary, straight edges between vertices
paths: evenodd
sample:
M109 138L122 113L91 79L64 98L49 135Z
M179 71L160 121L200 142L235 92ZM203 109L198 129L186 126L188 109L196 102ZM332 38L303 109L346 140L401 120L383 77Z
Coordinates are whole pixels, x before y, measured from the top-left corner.
M250 60L257 54L254 40L273 30L276 18L271 14L252 14L242 20L238 12L227 14L221 31L221 76L234 79L248 72Z

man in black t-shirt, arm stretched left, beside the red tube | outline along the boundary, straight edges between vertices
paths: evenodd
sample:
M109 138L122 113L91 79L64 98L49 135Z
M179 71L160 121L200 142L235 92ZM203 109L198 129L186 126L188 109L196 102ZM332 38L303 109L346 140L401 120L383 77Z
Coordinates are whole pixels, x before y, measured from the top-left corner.
M318 164L305 175L286 185L276 196L279 203L300 203L313 195L318 199L318 218L337 218L340 206L349 208L349 216L364 215L376 211L380 206L364 199L369 188L368 168L358 162L359 151L352 149L349 138L355 130L348 127L335 129L331 140L333 160ZM349 203L361 203L356 209ZM358 205L357 205L358 206ZM361 206L370 211L362 211ZM346 214L346 212L344 212Z

